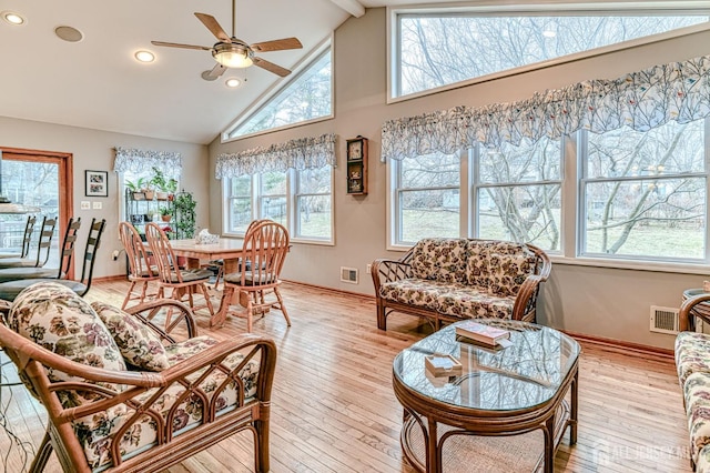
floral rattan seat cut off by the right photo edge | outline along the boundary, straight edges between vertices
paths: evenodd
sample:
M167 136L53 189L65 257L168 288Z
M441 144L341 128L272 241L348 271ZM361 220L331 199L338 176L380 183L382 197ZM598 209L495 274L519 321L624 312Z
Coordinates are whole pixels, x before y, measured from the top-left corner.
M710 335L694 332L696 316L710 323L710 293L699 293L680 306L676 368L683 391L693 470L710 473Z

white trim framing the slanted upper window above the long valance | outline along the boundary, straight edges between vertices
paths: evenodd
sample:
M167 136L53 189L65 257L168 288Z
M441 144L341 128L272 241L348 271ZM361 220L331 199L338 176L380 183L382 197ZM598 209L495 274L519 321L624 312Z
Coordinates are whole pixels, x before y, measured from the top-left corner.
M630 3L562 3L562 4L536 4L536 6L480 6L480 7L435 7L435 8L417 8L417 7L387 7L387 99L386 103L398 103L412 99L418 99L422 97L439 93L448 90L460 89L464 87L490 82L494 80L515 77L526 72L548 69L570 62L576 62L582 59L595 58L598 56L605 56L620 50L643 46L653 44L657 42L666 41L673 38L684 37L703 31L710 31L710 22L703 24L696 24L692 27L680 28L670 32L651 34L649 37L639 38L635 40L623 41L601 48L590 49L588 51L581 51L574 54L561 56L559 58L550 59L542 62L536 62L532 64L523 66L515 69L508 69L506 71L496 72L493 74L481 76L473 79L468 79L460 82L455 82L447 85L437 87L434 89L423 90L419 92L409 93L406 95L397 95L398 78L399 78L399 37L398 37L398 16L403 13L457 13L457 12L470 12L470 13L530 13L530 12L555 12L556 14L564 14L565 12L574 13L602 13L602 12L620 12L620 11L633 11L635 13L642 14L643 12L658 13L659 11L673 12L677 14L683 13L707 13L707 9L710 7L708 1L659 1L659 2L643 2ZM710 13L709 13L710 14Z

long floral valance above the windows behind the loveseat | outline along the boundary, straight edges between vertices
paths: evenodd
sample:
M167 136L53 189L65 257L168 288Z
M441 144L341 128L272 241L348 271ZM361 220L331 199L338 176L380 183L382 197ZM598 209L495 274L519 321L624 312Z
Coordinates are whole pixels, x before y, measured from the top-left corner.
M536 93L527 100L456 107L389 120L382 128L382 161L440 152L476 143L488 148L578 130L595 133L628 125L637 131L669 120L680 123L710 113L710 56L656 66L616 80L590 80Z

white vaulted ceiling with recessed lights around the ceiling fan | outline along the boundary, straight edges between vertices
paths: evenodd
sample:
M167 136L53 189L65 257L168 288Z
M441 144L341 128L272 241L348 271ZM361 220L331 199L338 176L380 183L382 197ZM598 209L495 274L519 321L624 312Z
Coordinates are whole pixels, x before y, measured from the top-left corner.
M413 1L237 0L236 37L248 43L298 38L303 50L258 54L291 69L347 20L348 11L403 3ZM211 47L216 39L193 13L212 14L231 33L230 0L0 0L0 11L6 10L28 21L21 27L0 21L3 117L209 143L280 79L252 67L207 82L200 74L215 64L209 51L151 44ZM59 26L77 28L83 40L60 40ZM133 54L140 49L153 51L156 60L139 63ZM243 84L226 88L230 77Z

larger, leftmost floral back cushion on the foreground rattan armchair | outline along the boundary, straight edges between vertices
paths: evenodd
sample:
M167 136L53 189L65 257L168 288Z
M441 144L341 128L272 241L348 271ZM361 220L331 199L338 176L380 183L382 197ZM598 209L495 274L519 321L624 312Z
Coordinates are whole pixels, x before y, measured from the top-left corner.
M55 282L24 289L8 314L20 335L77 363L125 371L123 356L94 310L72 290ZM52 381L83 381L49 370Z

